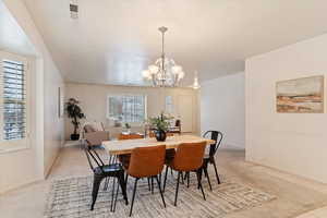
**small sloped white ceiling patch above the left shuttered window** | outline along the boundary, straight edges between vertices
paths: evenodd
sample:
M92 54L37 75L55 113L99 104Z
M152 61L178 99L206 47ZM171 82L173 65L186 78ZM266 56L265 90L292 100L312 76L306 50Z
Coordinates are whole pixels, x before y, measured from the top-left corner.
M37 52L26 34L0 0L0 50L35 56Z

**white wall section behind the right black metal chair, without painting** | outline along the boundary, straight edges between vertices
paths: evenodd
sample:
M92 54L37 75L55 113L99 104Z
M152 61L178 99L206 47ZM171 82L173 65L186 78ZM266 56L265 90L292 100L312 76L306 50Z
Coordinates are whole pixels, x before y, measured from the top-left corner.
M202 83L201 132L218 130L223 146L244 148L244 72Z

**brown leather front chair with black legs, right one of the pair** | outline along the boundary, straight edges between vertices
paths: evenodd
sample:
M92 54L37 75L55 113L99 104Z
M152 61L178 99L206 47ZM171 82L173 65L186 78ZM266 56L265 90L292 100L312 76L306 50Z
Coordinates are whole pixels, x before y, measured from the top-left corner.
M202 191L204 199L206 199L201 183L201 178L199 178L202 166L203 166L205 147L206 147L206 142L181 144L177 148L174 158L167 164L165 182L164 182L164 191L166 187L168 168L170 167L171 169L178 171L178 183L177 183L175 195L174 195L174 206L177 206L179 184L180 184L181 177L183 177L183 172L186 173L196 172L197 185ZM189 186L189 182L190 180L187 181L187 186Z

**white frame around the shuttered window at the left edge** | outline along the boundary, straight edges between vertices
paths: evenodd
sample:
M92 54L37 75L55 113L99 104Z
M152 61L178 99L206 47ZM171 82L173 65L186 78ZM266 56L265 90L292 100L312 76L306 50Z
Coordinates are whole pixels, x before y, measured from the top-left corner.
M20 149L27 149L31 147L31 59L24 56L10 53L0 50L0 92L3 92L3 60L11 60L22 62L24 64L24 78L25 78L25 137L21 140L3 140L3 98L0 98L0 153L15 152Z

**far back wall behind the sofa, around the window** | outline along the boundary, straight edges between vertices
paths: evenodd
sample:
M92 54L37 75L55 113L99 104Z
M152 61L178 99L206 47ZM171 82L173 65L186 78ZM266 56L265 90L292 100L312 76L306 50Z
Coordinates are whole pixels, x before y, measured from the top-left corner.
M111 136L117 136L121 129L108 126L106 119L107 97L114 94L142 94L147 96L147 116L158 116L165 109L165 96L172 96L174 112L178 118L183 111L179 111L179 97L190 96L193 101L193 126L192 132L198 132L198 104L197 92L192 88L158 88L158 87L135 87L135 86L113 86L68 83L65 86L65 97L76 98L81 101L81 107L88 121L100 121L109 129ZM83 121L82 121L83 122ZM182 123L183 125L183 123ZM137 130L141 131L141 130ZM71 121L65 119L65 137L69 138L73 132Z

